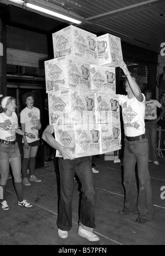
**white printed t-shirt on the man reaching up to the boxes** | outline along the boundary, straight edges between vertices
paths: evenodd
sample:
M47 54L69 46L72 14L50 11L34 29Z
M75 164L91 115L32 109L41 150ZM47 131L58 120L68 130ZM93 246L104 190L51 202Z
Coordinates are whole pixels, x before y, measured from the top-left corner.
M125 136L134 137L145 134L145 95L144 100L139 102L136 97L128 99L127 95L119 95L119 104L122 106Z

